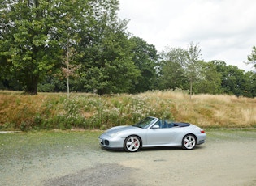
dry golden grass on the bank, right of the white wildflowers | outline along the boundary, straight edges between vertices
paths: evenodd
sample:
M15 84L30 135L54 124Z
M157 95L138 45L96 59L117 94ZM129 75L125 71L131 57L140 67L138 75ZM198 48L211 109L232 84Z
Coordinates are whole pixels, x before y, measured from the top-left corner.
M141 96L171 100L170 112L182 120L205 128L256 127L256 98L235 95L193 95L158 91Z

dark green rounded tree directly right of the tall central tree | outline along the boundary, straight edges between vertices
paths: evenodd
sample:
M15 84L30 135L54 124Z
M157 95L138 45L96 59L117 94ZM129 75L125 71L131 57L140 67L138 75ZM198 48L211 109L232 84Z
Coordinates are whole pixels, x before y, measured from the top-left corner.
M132 93L144 92L153 88L156 79L157 50L154 45L147 44L145 40L132 36L132 61L140 74L136 82L132 82Z

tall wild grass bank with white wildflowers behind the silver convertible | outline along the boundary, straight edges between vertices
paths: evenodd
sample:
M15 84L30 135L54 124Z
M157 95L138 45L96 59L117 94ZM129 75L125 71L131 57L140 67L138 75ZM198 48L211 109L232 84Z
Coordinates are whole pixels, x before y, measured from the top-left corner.
M0 129L107 129L145 116L184 121L203 128L256 127L256 99L148 91L138 95L64 93L22 95L0 91Z

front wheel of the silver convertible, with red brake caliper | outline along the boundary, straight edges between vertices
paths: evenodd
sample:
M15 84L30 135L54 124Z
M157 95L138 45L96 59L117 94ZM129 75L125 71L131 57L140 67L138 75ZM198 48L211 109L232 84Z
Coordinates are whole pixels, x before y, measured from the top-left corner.
M128 152L136 152L141 149L141 139L137 136L126 137L124 141L124 150Z

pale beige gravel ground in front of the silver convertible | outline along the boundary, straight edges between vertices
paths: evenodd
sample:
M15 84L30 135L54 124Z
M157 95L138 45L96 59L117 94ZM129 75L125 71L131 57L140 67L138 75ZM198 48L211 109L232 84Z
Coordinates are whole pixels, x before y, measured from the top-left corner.
M152 148L126 153L95 143L80 150L70 148L65 154L16 157L0 163L0 185L253 186L256 132L243 132L245 137L239 133L210 132L206 143L194 150Z

